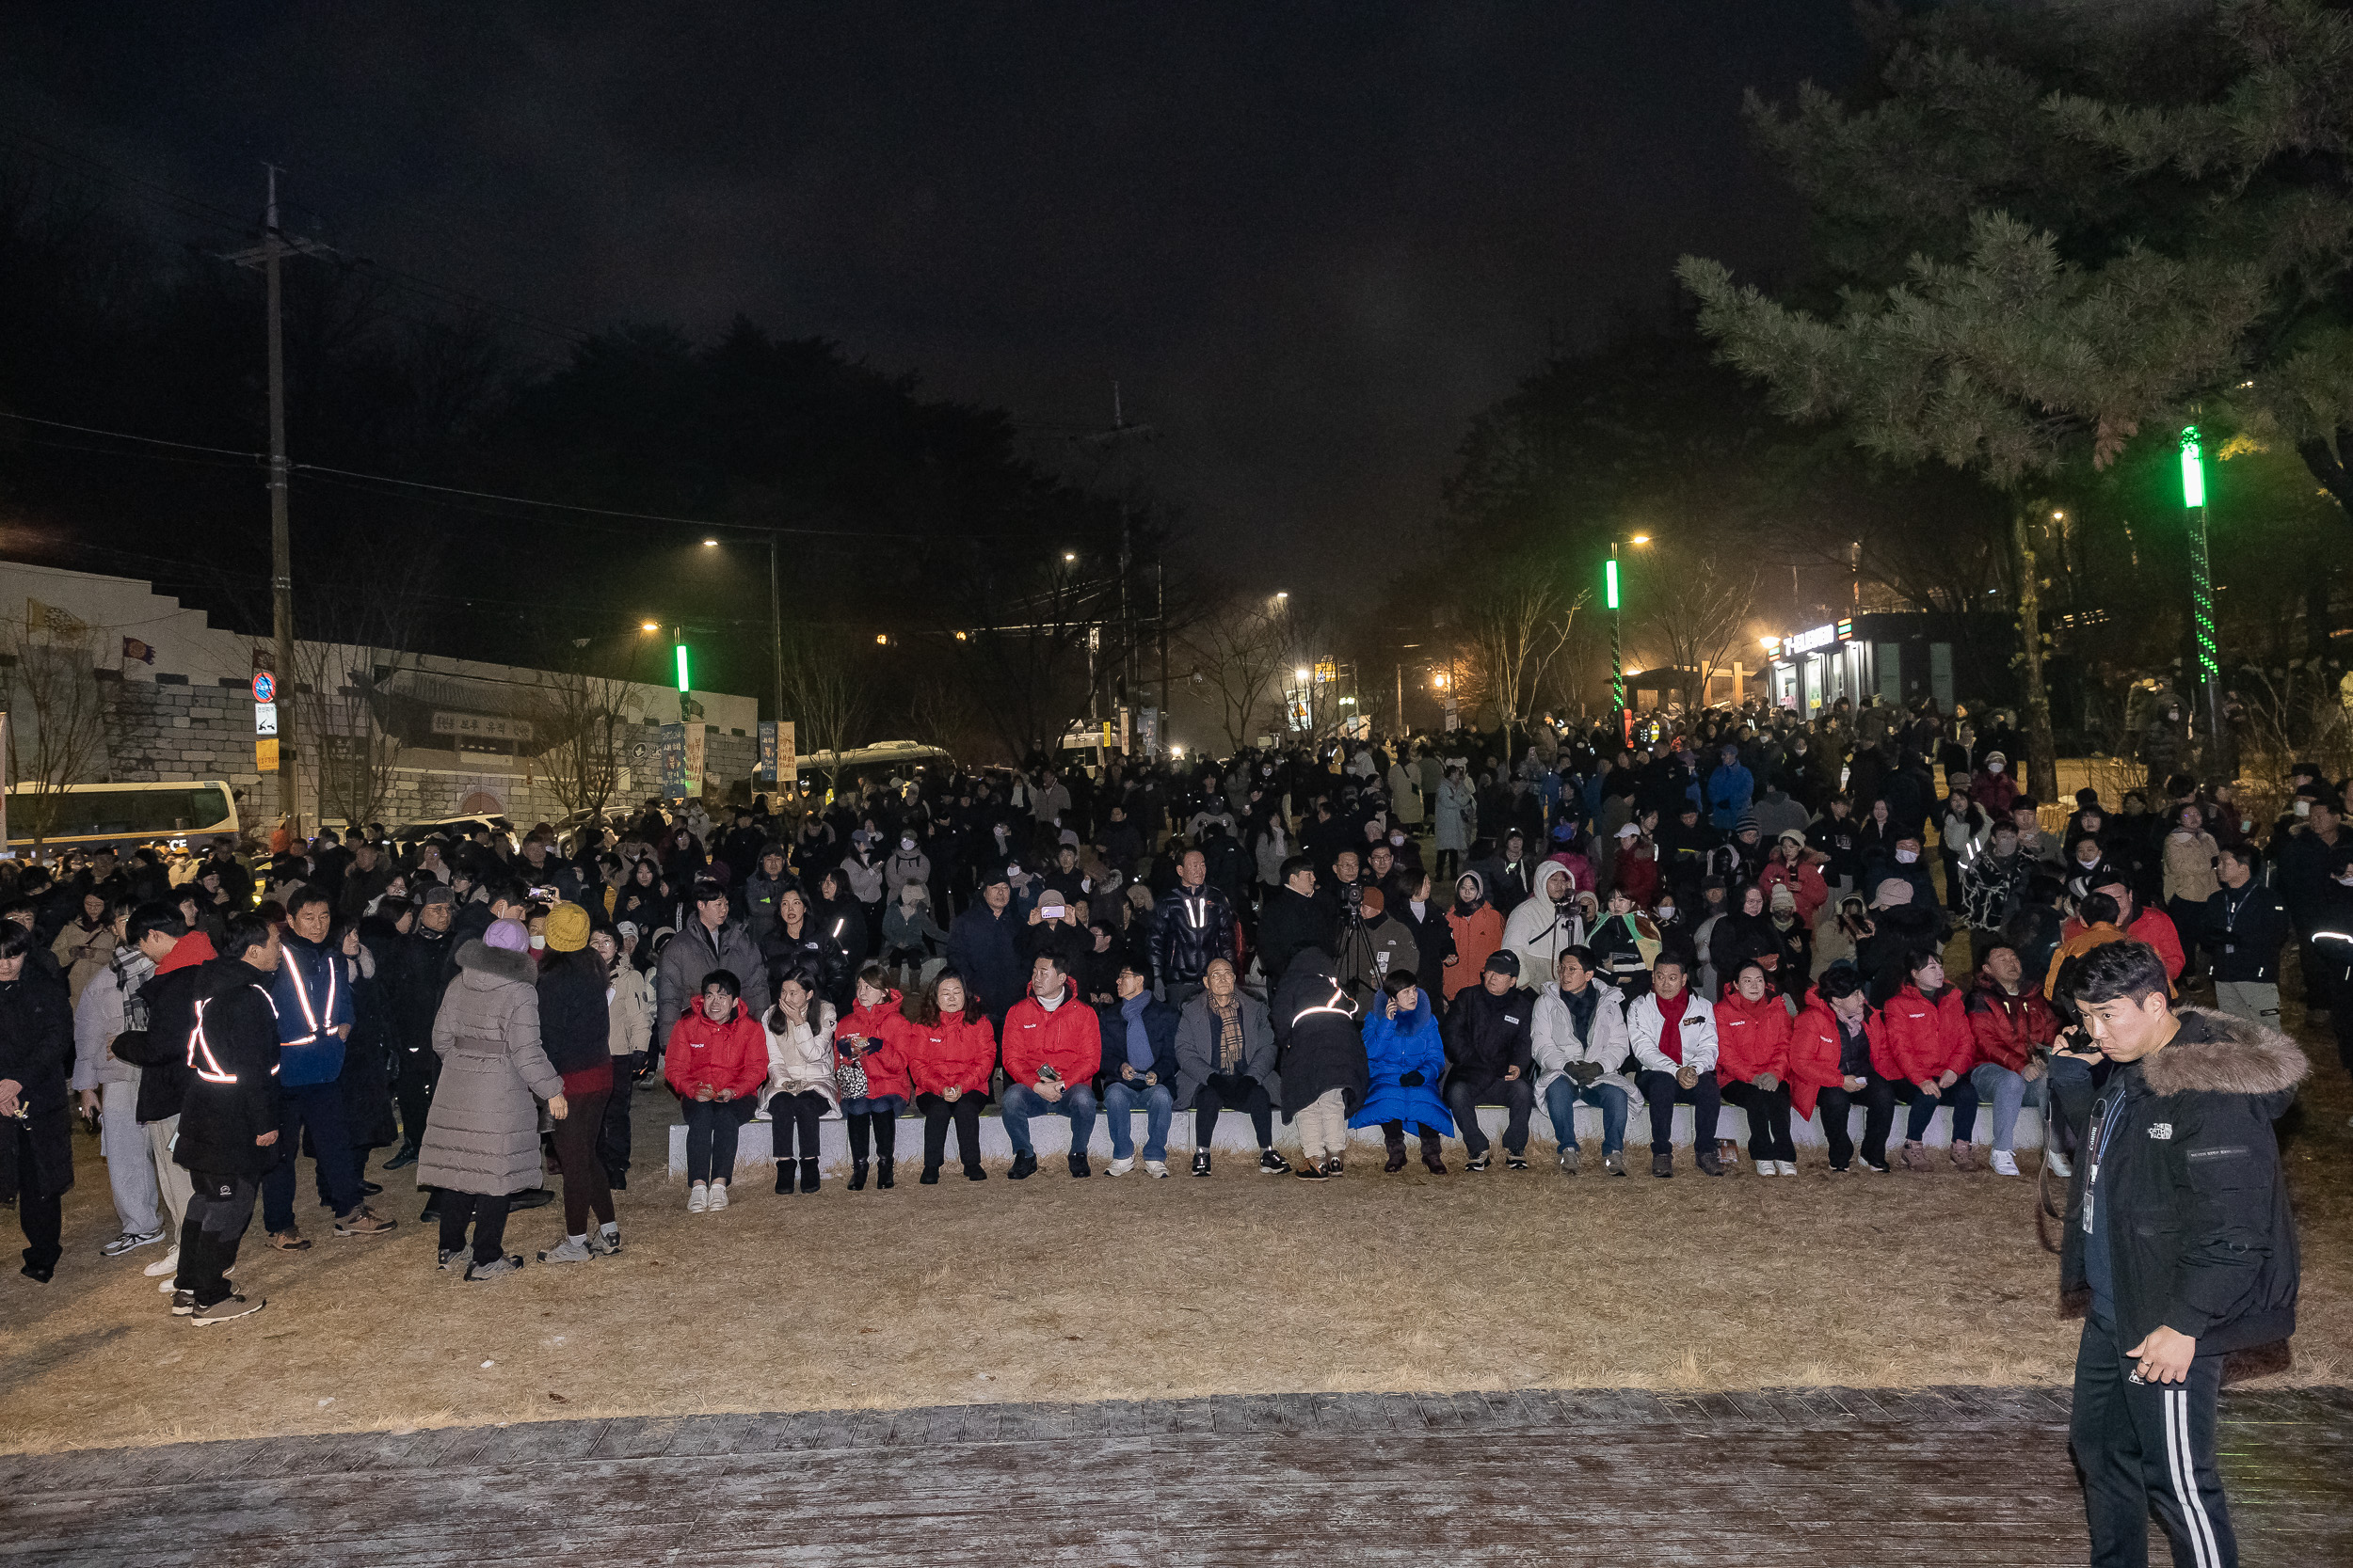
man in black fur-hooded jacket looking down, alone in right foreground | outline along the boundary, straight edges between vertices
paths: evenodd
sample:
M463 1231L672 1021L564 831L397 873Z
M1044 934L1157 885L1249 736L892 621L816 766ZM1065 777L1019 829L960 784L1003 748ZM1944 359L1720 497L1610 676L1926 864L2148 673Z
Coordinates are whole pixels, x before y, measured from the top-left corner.
M2165 961L2108 943L2075 1006L2115 1063L2068 1190L2064 1291L2089 1291L2071 1436L2094 1563L2148 1561L2148 1507L2177 1563L2238 1561L2214 1469L2214 1392L2233 1349L2297 1328L2297 1227L2278 1119L2311 1070L2285 1034L2167 1009ZM2061 1037L2061 1044L2068 1044Z

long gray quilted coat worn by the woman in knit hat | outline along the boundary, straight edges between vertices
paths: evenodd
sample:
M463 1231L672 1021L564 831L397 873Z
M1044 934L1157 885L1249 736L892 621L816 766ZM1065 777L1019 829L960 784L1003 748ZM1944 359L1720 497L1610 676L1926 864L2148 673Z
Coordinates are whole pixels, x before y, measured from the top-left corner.
M539 1048L532 957L464 943L433 1018L433 1051L442 1074L416 1185L482 1194L536 1187L539 1100L560 1095L565 1079Z

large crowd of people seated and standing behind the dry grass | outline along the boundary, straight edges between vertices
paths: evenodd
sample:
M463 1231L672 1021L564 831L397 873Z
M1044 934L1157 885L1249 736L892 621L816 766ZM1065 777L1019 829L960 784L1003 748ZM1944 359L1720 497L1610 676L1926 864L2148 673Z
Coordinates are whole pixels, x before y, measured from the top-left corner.
M473 1281L522 1267L508 1215L558 1204L553 1159L562 1237L539 1258L616 1253L638 1093L678 1105L692 1213L729 1206L753 1119L776 1194L821 1190L835 1117L852 1192L896 1185L904 1117L920 1185L951 1133L986 1180L988 1103L1012 1180L1049 1117L1073 1178L1099 1119L1108 1175L1165 1178L1188 1114L1209 1175L1226 1112L1271 1175L1344 1175L1355 1131L1391 1173L1445 1175L1449 1143L1525 1171L1539 1114L1577 1173L1581 1110L1602 1173L1628 1173L1640 1119L1668 1178L1678 1107L1694 1166L1727 1175L1725 1105L1762 1178L1798 1175L1812 1117L1831 1173L1969 1171L1981 1114L1986 1164L2019 1175L2024 1107L2047 1107L2057 1173L2085 1126L2099 1070L2054 1044L2104 945L2275 1025L2294 940L2353 1041L2346 792L2299 769L2259 830L2228 785L2165 776L2115 813L2085 790L2047 830L2014 745L1934 705L1751 705L1642 748L1569 724L1033 759L520 842L362 825L181 875L153 851L5 863L0 1180L47 1281L85 1117L118 1222L96 1251L160 1246L172 1312L214 1324L261 1305L228 1281L256 1199L268 1246L311 1248L299 1154L332 1234L369 1239L395 1229L369 1206L381 1152Z

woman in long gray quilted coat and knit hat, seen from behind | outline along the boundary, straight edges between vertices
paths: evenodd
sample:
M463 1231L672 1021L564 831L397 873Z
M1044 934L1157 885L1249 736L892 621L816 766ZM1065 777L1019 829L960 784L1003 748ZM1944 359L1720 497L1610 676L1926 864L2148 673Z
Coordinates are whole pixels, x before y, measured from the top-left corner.
M539 1048L539 985L532 938L522 922L499 919L456 950L456 980L433 1018L433 1053L442 1060L416 1154L416 1185L440 1187L440 1267L466 1248L466 1279L496 1279L522 1267L506 1253L506 1204L539 1185L539 1100L565 1119L565 1079Z

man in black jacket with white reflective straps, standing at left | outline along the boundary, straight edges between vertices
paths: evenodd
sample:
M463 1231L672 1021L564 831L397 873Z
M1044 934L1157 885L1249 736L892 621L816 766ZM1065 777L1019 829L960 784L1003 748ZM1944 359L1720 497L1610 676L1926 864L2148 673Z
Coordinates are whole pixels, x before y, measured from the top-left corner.
M188 1171L188 1218L179 1229L172 1312L198 1324L261 1312L264 1298L228 1288L238 1241L254 1220L261 1178L278 1164L278 926L240 914L226 957L205 966L188 1030L188 1093L172 1157Z

